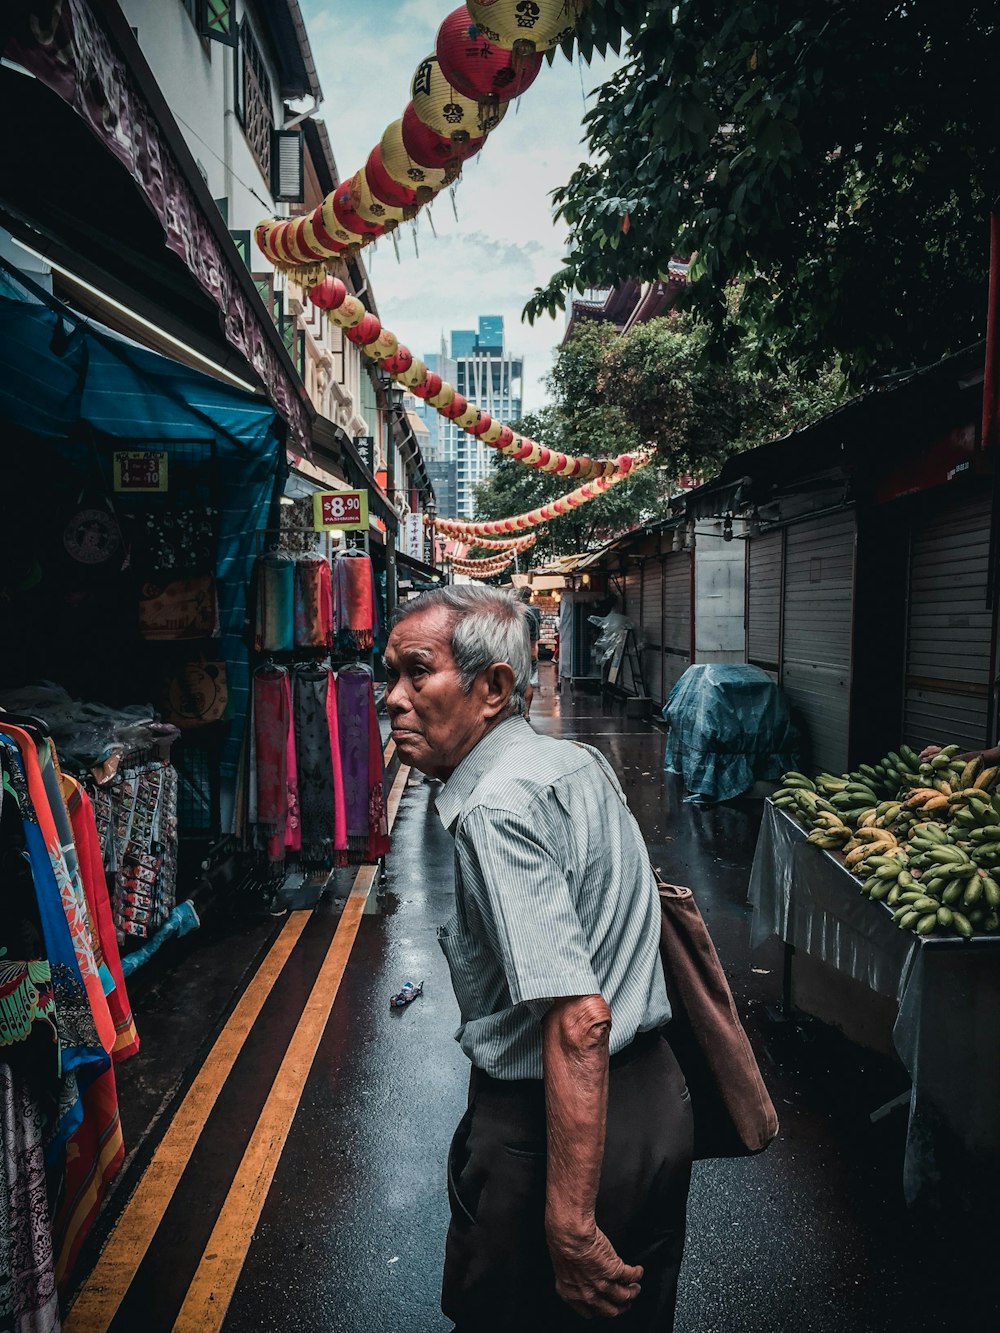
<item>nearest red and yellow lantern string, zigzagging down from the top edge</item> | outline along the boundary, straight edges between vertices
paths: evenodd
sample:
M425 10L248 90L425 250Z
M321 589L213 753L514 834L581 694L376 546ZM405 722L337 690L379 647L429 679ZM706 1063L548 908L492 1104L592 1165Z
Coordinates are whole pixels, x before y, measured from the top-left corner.
M309 300L399 384L443 417L507 457L556 476L588 481L628 471L631 456L575 457L536 444L495 421L401 347L376 315L329 272L379 236L416 217L453 184L513 97L537 77L545 51L572 35L588 0L468 0L437 32L435 52L416 69L411 101L387 127L365 165L304 217L257 224L257 245Z

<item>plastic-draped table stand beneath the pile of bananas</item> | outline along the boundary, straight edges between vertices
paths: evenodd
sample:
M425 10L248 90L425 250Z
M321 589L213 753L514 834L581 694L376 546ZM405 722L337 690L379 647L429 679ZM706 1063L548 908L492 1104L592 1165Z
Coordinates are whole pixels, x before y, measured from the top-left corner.
M836 848L765 802L751 872L752 946L801 950L897 1004L911 1078L903 1189L909 1204L983 1206L1000 1188L1000 934L916 934L872 901Z

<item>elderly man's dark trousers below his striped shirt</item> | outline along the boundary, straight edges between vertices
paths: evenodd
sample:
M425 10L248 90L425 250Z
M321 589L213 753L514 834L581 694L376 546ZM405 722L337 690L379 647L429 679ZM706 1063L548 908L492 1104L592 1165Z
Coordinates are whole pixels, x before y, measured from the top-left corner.
M545 1100L540 1080L473 1070L469 1106L448 1154L452 1222L441 1309L456 1333L529 1333L613 1325L671 1333L691 1181L691 1098L661 1032L612 1056L597 1225L627 1264L641 1264L628 1313L584 1320L555 1290L544 1232Z

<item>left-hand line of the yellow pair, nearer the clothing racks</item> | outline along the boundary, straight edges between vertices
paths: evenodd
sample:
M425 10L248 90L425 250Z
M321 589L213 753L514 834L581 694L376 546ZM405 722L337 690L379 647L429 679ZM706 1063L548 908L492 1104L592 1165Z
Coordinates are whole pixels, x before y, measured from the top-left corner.
M64 1333L104 1333L167 1212L173 1190L264 1001L303 933L309 912L293 912L219 1033L212 1050L163 1136L93 1272L80 1289Z

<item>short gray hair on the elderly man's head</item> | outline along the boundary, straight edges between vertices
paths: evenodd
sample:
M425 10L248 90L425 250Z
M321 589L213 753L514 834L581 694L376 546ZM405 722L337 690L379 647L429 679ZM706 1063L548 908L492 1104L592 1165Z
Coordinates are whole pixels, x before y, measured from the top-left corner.
M524 716L524 694L531 681L531 637L528 609L509 592L483 584L452 584L421 593L403 603L393 624L417 612L448 612L452 623L451 649L465 693L476 676L493 663L507 663L513 670L513 690L508 717Z

